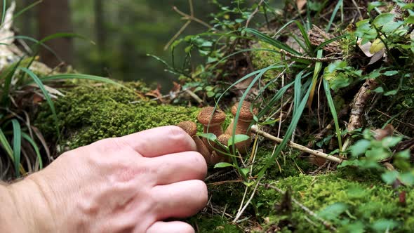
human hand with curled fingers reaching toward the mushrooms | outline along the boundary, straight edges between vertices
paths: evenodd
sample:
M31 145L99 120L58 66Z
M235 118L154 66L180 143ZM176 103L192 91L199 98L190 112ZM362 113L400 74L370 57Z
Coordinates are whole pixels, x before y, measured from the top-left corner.
M194 232L206 161L177 126L100 140L9 186L28 232Z

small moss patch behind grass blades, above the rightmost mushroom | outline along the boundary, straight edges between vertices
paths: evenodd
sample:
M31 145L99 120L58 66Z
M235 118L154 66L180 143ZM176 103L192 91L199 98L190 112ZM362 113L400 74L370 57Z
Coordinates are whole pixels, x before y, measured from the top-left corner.
M255 46L253 46L253 48L258 48L258 49L269 49L269 50L273 50L275 52L272 51L252 51L252 63L253 63L253 67L255 69L263 69L266 67L269 67L270 65L274 65L277 62L281 61L281 54L277 53L276 51L279 51L279 48L276 48L274 46L271 46L265 42L259 41L258 44L255 44ZM268 84L270 81L274 81L274 79L276 78L276 76L279 75L280 70L278 69L271 69L268 72L266 72L266 74L264 74L262 81L265 84ZM276 81L272 84L269 85L269 90L276 90L277 88L279 88L279 81Z

